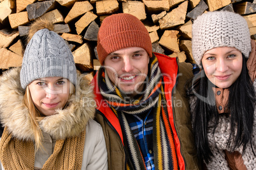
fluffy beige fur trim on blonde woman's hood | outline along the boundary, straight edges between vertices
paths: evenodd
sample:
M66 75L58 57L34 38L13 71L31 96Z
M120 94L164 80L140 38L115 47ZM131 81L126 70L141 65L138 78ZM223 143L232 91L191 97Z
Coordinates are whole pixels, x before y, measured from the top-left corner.
M77 75L76 93L69 105L57 114L44 117L39 122L41 130L55 139L78 136L85 130L89 119L94 118L96 102L93 87L82 74ZM23 103L24 89L20 85L20 67L8 70L0 77L0 119L15 138L34 140L29 112Z

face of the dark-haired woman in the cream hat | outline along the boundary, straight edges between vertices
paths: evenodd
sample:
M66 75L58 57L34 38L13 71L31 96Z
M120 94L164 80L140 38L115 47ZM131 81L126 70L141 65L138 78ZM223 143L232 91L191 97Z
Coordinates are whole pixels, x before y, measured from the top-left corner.
M242 53L231 47L213 48L202 58L204 72L219 88L229 88L238 79L243 67Z

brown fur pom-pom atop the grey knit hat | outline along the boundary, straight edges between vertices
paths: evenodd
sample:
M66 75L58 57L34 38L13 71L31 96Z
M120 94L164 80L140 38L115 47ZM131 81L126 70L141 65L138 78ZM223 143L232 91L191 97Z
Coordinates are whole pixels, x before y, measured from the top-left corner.
M34 36L34 34L41 29L53 30L54 29L53 22L49 20L41 19L41 18L38 18L35 22L33 22L31 24L31 28L29 29L29 34L27 35L27 43L29 43L32 36Z

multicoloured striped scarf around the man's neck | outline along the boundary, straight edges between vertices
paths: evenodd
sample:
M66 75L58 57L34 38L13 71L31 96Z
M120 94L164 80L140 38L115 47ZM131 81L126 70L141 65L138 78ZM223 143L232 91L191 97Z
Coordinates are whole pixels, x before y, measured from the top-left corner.
M168 119L166 98L162 84L162 75L155 55L150 58L148 79L144 93L127 100L109 79L105 69L98 72L101 94L115 112L124 135L124 147L129 154L127 169L146 169L145 160L125 114L143 114L152 108L153 112L153 152L155 169L178 169L178 160L174 147L173 132Z

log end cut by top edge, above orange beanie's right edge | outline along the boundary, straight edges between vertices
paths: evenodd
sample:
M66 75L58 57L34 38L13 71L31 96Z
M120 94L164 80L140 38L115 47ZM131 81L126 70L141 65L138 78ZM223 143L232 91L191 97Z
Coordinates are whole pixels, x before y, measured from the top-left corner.
M143 0L143 3L146 6L146 10L150 13L159 13L161 11L169 11L169 1L168 0L160 0L160 1L150 1Z

